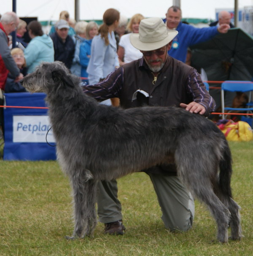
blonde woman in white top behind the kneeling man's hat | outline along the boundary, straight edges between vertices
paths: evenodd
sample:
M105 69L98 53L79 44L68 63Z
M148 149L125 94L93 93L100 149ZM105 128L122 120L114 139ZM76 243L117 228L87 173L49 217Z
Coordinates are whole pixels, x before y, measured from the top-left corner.
M126 30L132 33L139 33L139 24L142 19L144 19L144 17L140 13L132 16L129 23L127 24ZM140 52L140 50L136 49L130 43L130 35L131 33L122 35L118 43L118 59L121 66L125 63L143 57L143 54Z

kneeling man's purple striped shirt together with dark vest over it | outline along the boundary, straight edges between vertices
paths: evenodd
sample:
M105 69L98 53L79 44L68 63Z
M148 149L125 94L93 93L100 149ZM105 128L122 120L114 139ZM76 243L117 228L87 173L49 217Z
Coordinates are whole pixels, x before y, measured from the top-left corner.
M83 86L83 92L98 101L118 97L123 108L179 106L180 103L194 101L205 107L206 116L215 109L215 102L205 89L199 73L177 59L168 56L155 84L153 81L153 73L141 58L118 68L98 84ZM137 90L144 91L148 97Z

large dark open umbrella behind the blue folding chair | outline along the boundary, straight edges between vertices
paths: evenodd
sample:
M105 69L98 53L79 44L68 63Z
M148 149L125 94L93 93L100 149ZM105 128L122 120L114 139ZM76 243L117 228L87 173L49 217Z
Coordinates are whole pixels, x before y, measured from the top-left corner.
M226 34L218 34L204 43L191 46L192 66L202 67L210 81L253 79L253 37L240 28L232 28ZM210 86L220 86L211 84ZM210 94L219 106L220 92ZM215 96L215 95L212 95ZM228 97L226 105L231 105Z

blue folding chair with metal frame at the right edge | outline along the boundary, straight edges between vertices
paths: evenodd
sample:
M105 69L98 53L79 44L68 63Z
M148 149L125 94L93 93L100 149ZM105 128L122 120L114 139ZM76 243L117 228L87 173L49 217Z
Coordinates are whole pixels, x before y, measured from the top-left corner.
M224 91L229 92L249 92L249 100L246 108L229 108L224 106ZM224 81L221 84L221 111L224 113L225 110L232 112L234 110L237 111L245 111L246 113L253 113L253 107L250 108L250 102L253 99L253 82L251 81ZM225 119L225 115L222 115L222 118Z

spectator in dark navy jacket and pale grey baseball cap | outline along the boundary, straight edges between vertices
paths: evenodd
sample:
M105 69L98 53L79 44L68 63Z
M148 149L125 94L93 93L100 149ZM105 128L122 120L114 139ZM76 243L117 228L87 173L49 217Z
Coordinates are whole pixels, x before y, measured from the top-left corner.
M54 60L63 62L70 69L75 53L75 43L67 34L70 27L64 19L61 19L55 28L56 32L50 35L54 43Z

